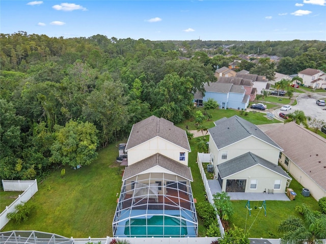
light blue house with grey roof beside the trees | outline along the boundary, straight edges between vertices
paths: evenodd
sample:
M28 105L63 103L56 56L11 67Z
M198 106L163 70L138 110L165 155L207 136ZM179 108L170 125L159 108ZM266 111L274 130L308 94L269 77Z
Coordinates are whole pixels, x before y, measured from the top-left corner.
M202 106L203 102L209 98L218 102L222 109L246 109L249 105L250 97L246 95L246 89L244 89L243 85L212 82L210 84L206 83L204 88L205 96L200 92L194 95L197 106Z

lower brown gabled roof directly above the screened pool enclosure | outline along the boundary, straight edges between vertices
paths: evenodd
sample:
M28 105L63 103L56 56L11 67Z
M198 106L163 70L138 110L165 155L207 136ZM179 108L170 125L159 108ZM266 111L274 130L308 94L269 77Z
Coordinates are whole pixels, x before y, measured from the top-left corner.
M177 161L174 161L168 157L165 157L161 154L152 155L146 159L143 159L137 163L129 165L126 167L122 180L128 179L132 176L143 173L146 170L149 170L155 166L162 167L167 169L176 175L193 181L193 176L190 167L185 166Z

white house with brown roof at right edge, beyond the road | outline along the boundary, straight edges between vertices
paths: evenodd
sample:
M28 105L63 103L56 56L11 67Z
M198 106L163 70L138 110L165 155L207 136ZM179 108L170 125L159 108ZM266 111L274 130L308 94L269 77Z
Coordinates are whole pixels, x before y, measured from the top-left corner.
M298 77L303 79L303 85L312 89L326 88L326 73L316 69L305 69L298 73Z

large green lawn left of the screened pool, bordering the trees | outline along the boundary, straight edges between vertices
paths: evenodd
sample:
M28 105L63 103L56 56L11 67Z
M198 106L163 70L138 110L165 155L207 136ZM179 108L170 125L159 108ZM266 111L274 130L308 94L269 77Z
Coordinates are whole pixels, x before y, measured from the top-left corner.
M64 178L60 168L38 181L39 191L30 200L36 212L22 224L9 222L2 231L38 230L75 238L112 236L122 185L117 155L116 145L110 145L99 151L91 165L77 170L65 167Z

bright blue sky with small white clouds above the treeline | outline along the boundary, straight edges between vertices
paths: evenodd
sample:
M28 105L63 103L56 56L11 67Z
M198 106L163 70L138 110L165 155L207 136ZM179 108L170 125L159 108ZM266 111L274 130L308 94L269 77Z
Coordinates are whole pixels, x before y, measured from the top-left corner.
M0 1L0 31L49 37L326 41L326 0Z

